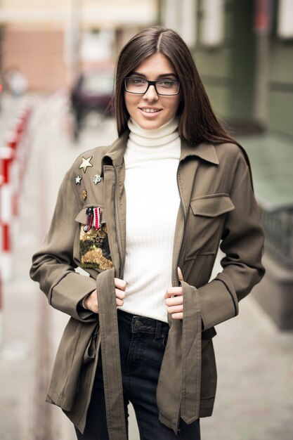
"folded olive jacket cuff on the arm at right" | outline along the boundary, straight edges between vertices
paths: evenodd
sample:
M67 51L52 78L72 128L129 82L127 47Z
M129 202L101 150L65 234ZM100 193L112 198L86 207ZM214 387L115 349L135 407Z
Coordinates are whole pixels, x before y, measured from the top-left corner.
M202 330L223 323L238 314L238 300L230 278L219 273L211 283L198 289L202 309Z

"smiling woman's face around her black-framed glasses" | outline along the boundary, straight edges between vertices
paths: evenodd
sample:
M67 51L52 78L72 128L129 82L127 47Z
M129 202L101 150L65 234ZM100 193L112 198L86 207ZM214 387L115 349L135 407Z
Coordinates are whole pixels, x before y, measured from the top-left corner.
M178 79L173 65L162 53L155 53L146 58L134 72L129 74L129 77L132 76L148 79L148 81ZM124 99L130 117L141 128L153 130L162 127L176 115L180 93L171 96L158 95L155 87L150 86L144 95L124 91Z

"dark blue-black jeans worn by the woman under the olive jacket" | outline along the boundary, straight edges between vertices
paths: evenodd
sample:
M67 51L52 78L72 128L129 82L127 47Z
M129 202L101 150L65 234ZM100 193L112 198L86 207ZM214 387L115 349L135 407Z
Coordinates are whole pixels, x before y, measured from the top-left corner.
M136 413L141 440L200 440L200 420L195 420L190 425L181 420L177 436L172 429L159 422L157 380L169 325L120 310L117 313L126 427L128 428L127 406L130 401ZM86 429L84 434L77 431L77 439L108 440L101 358L93 384Z

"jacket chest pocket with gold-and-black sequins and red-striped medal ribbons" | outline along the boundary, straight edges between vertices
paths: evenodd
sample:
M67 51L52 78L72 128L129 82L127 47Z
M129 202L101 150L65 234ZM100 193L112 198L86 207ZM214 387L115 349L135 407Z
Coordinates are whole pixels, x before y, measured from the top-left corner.
M89 208L92 209L93 217L89 221ZM96 218L97 210L100 215ZM98 268L102 271L112 268L112 258L108 241L107 225L103 207L86 206L75 218L80 224L79 231L79 259L82 268Z

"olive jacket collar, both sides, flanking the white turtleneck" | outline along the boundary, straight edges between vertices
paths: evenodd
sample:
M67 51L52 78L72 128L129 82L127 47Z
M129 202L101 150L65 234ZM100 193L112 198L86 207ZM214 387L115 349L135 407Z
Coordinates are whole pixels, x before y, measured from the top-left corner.
M110 158L115 167L122 165L124 153L126 150L127 140L129 137L129 130L124 131L121 137L117 138L115 142L112 143L108 152L102 157L102 173L103 164ZM181 141L181 155L180 161L184 160L188 156L197 156L206 162L211 164L219 165L219 157L216 154L216 148L211 143L199 143L195 147L189 145L186 141Z

